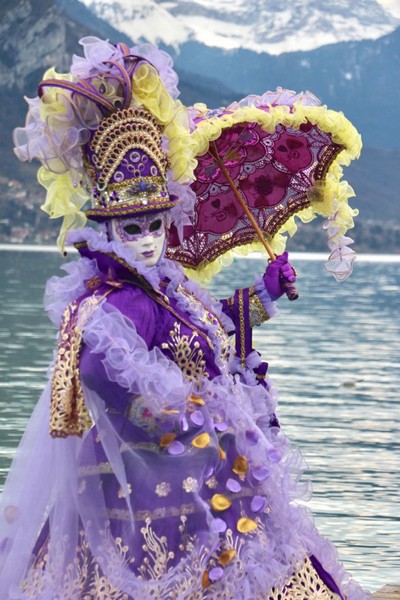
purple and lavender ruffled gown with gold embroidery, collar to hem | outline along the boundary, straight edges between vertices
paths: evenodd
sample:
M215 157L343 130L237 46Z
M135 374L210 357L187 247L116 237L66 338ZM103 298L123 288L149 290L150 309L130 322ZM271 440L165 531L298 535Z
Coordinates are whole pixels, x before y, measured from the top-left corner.
M274 311L262 283L219 303L171 261L71 239L82 257L46 293L57 356L1 503L0 598L368 597L296 503L301 455L251 348Z

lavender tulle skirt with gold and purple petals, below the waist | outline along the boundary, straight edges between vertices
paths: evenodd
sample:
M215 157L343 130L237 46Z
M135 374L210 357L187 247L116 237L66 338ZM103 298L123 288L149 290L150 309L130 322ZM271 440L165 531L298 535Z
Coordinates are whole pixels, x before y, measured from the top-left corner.
M273 389L236 388L233 402L210 383L179 427L85 388L93 427L53 439L48 386L2 498L0 597L368 597L298 502L304 464L266 418Z

